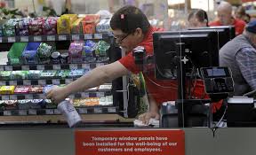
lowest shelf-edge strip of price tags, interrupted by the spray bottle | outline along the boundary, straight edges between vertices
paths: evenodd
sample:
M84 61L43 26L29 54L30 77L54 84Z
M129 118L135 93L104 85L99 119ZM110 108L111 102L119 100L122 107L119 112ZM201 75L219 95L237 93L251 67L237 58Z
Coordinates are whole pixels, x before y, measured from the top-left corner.
M116 113L118 107L116 106L81 106L76 107L79 114L93 114L93 113ZM2 110L0 116L28 116L28 115L60 115L58 109L27 109L27 110Z

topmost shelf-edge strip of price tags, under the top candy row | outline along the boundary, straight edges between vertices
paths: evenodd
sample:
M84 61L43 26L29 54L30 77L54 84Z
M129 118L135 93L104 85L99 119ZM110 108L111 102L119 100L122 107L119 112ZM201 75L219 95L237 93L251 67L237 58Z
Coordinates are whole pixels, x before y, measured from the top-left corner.
M52 42L52 41L76 41L88 39L107 39L109 35L105 34L79 34L79 35L29 35L29 36L3 36L0 37L0 43L16 42Z

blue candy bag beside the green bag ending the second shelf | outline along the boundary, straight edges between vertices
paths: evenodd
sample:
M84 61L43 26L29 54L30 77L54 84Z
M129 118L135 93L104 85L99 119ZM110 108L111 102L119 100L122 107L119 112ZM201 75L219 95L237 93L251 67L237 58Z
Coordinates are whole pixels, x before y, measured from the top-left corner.
M94 43L91 40L87 40L84 43L84 52L83 52L83 60L84 62L95 62L96 57L94 56L94 50L96 50L97 43Z

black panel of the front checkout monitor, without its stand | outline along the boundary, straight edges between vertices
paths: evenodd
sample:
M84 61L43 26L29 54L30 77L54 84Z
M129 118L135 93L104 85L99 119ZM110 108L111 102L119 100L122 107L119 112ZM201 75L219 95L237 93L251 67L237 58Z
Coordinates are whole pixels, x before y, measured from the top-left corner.
M184 51L188 59L184 68L219 66L218 32L193 30L156 32L153 34L156 79L175 79L177 54ZM178 61L179 62L179 61Z

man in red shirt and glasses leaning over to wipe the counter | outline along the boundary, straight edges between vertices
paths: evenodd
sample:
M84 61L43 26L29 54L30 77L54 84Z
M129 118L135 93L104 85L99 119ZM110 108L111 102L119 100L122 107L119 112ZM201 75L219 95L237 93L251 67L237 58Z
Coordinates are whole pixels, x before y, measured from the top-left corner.
M141 69L134 62L132 50L137 46L143 46L147 55L153 55L152 34L160 29L151 27L146 15L131 5L124 6L113 15L110 27L116 43L125 50L126 56L106 66L96 67L89 74L84 74L65 87L52 89L47 93L47 98L52 99L54 103L60 103L72 93L91 89L120 76L140 73ZM177 85L174 81L156 80L154 70L144 74L144 77L148 89L149 111L140 115L140 120L148 123L150 118L159 120L159 106L164 101L177 98Z

